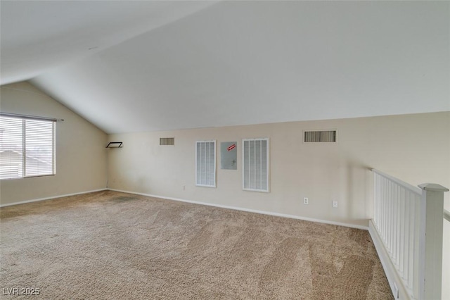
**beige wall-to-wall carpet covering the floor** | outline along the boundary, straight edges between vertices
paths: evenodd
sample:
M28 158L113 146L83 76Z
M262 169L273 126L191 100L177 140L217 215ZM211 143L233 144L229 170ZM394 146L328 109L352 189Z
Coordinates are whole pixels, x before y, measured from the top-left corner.
M0 218L4 299L392 299L365 230L117 192Z

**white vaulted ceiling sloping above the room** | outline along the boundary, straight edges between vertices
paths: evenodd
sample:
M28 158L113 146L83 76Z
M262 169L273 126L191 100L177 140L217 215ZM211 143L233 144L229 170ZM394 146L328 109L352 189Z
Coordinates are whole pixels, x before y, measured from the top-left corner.
M449 1L1 1L1 85L108 133L450 111Z

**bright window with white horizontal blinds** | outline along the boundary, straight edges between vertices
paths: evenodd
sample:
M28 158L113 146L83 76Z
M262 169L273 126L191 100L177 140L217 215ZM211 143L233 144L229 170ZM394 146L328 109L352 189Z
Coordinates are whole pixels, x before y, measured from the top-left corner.
M0 116L0 179L55 174L55 122Z

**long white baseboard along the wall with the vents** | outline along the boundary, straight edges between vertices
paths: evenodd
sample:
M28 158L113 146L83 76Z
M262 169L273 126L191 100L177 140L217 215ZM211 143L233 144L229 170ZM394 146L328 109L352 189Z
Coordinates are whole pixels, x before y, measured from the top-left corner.
M291 218L291 219L296 219L296 220L305 220L305 221L309 221L309 222L317 222L317 223L324 223L324 224L330 224L330 225L338 225L338 226L344 226L344 227L351 227L351 228L356 228L356 229L368 230L368 227L362 226L362 225L354 225L354 224L340 223L340 222L334 222L334 221L328 221L328 220L320 220L320 219L314 219L314 218L305 218L305 217L300 217L298 215L288 215L288 214L285 214L285 213L274 213L274 212L271 212L271 211L258 211L258 210L255 210L255 209L243 208L243 207L237 207L237 206L211 204L211 203L207 203L207 202L191 201L191 200L178 199L178 198L172 198L172 197L167 197L167 196L158 196L158 195L153 195L153 194L144 194L144 193L138 193L138 192L124 191L122 189L110 189L110 188L108 188L108 189L110 191L114 191L114 192L122 192L122 193L127 193L127 194L136 194L136 195L141 195L141 196L149 196L149 197L153 197L153 198L160 198L160 199L167 199L167 200L173 200L173 201L187 202L187 203L191 203L191 204L200 204L200 205L214 206L214 207L219 207L219 208L228 208L228 209L233 209L235 211L247 211L249 213L259 213L259 214L262 214L262 215L274 215L276 217Z

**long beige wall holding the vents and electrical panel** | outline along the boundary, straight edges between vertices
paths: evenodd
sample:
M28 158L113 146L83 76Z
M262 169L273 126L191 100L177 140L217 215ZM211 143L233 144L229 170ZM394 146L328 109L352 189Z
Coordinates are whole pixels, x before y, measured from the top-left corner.
M449 128L444 112L110 135L124 146L108 150L108 187L367 226L368 168L412 185L450 187ZM324 129L338 130L338 142L302 142L303 130ZM160 137L174 137L175 145L160 146ZM269 193L242 189L242 139L255 137L270 139ZM221 170L218 163L217 188L196 187L195 141L211 139L238 142L238 169Z

